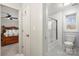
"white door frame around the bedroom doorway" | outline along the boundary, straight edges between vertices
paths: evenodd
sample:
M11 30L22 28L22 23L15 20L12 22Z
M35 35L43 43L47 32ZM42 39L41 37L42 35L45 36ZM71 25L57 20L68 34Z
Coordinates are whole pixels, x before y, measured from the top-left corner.
M21 35L21 33L22 33L22 28L21 28L21 9L18 9L18 8L15 8L15 7L11 7L11 6L8 6L8 5L6 5L6 4L0 4L0 5L3 5L3 6L6 6L6 7L10 7L10 8L12 8L12 9L15 9L15 10L18 10L18 27L19 27L19 53L21 54L22 53L22 42L21 42L21 40L22 40L22 35ZM1 21L1 18L0 18L0 21ZM1 29L1 22L0 22L0 29ZM0 35L1 35L1 31L0 31ZM0 36L0 56L1 56L1 36Z

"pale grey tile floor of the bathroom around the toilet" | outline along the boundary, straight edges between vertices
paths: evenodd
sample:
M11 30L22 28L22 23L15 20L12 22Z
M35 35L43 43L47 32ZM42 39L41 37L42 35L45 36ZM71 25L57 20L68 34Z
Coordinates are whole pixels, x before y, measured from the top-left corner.
M67 54L63 49L59 41L56 40L52 44L49 44L47 56L79 56L79 48L74 49L73 54Z

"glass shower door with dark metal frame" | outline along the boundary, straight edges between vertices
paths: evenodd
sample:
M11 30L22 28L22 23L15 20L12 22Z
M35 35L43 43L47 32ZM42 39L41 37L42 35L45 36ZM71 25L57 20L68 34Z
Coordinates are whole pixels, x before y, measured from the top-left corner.
M48 43L57 40L57 21L53 19L48 20Z

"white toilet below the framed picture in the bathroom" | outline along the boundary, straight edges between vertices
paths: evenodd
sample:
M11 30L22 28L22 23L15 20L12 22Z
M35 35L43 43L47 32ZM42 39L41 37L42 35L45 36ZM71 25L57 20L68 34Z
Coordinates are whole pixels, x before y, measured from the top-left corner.
M64 41L66 53L73 54L74 42L75 42L75 36L74 35L68 35L66 37L66 40Z

